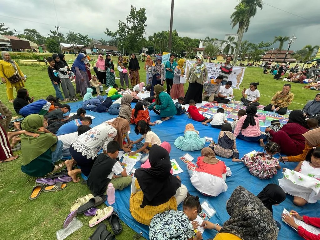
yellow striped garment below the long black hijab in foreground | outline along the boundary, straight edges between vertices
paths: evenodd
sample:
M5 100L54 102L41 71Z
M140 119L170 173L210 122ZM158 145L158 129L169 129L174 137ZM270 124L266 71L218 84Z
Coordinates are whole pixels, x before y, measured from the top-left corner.
M140 208L140 205L143 200L143 192L141 191L141 188L139 186L137 179L135 179L134 185L137 188L137 192L132 193L130 196L130 212L132 217L138 222L149 226L151 219L157 213L164 212L171 209L177 210L177 201L174 196L172 196L168 202L161 204L159 206L154 207L154 206L147 205L144 208Z

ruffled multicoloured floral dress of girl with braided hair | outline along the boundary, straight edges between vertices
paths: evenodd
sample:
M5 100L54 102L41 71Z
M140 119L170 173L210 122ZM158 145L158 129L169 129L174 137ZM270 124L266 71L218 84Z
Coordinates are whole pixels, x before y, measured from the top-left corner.
M268 154L257 152L253 155L253 160L248 155L241 160L249 172L260 179L273 178L273 175L277 174L276 167L279 166L279 161Z

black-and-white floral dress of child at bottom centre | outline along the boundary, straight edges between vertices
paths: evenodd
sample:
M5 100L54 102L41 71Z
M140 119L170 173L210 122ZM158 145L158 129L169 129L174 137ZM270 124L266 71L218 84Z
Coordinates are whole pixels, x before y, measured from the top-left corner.
M196 236L188 216L181 211L168 210L156 214L149 227L150 240L187 240Z

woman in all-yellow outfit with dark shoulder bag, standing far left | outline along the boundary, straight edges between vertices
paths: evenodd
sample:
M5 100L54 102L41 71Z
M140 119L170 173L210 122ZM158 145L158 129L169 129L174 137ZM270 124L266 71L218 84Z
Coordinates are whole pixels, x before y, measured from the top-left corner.
M24 74L21 72L18 64L11 60L9 52L1 52L1 57L3 60L0 60L0 77L3 83L7 86L7 96L9 102L13 102L13 88L16 88L16 91L22 87L24 87L24 83L26 82L26 78ZM11 83L8 78L13 76L14 74L18 74L20 76L20 80L15 83Z

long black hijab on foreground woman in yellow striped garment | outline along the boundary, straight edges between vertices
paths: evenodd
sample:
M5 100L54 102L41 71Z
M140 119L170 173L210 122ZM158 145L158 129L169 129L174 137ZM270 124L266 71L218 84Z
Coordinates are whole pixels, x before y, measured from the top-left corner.
M181 181L170 173L170 156L166 149L154 144L149 152L150 168L138 168L134 172L143 192L140 205L159 206L170 200L181 187Z

